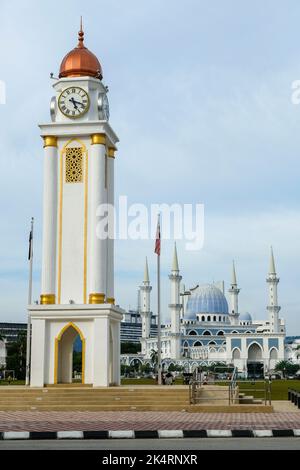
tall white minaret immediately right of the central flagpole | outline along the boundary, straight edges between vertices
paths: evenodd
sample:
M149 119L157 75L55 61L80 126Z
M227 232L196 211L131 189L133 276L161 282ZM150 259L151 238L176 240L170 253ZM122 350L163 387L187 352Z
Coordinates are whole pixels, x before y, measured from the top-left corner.
M180 281L182 276L179 274L176 243L174 246L173 263L169 279L171 281L171 303L169 304L171 314L171 333L172 335L178 336L180 333ZM178 358L180 350L179 346L178 339L175 338L175 341L172 341L171 344L171 353L173 358Z

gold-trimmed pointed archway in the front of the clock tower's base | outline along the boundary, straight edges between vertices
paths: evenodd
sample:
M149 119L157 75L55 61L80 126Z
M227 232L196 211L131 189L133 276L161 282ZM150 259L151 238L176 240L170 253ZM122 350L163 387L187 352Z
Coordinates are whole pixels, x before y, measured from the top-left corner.
M79 335L81 340L81 383L84 383L85 373L85 338L74 323L70 322L55 338L54 383L72 383L73 378L73 348Z

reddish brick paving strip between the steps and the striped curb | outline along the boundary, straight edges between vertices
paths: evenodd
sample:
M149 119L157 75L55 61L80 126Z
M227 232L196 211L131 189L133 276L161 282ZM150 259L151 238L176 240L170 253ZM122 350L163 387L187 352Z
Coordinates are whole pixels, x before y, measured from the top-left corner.
M158 429L300 429L300 413L0 411L0 431Z

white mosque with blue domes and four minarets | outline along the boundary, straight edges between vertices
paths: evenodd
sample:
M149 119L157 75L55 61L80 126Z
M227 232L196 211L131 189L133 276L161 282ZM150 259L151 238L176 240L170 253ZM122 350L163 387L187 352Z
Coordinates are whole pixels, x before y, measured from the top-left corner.
M224 283L205 284L182 291L176 245L169 275L171 298L169 324L162 328L161 357L164 367L171 364L192 370L199 365L224 363L237 367L244 376L262 376L274 370L277 362L287 359L285 322L279 318L273 250L266 278L269 302L267 318L253 320L250 313L241 313L233 263L228 300ZM144 280L140 287L142 318L142 351L140 360L147 363L158 339L150 335L151 285L146 260Z

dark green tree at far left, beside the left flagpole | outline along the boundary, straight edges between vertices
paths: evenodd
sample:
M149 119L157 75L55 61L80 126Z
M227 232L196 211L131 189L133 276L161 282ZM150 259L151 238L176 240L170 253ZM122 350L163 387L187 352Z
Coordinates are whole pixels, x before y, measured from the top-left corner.
M26 336L26 331L20 331L17 340L7 345L6 369L14 370L19 380L26 374Z

